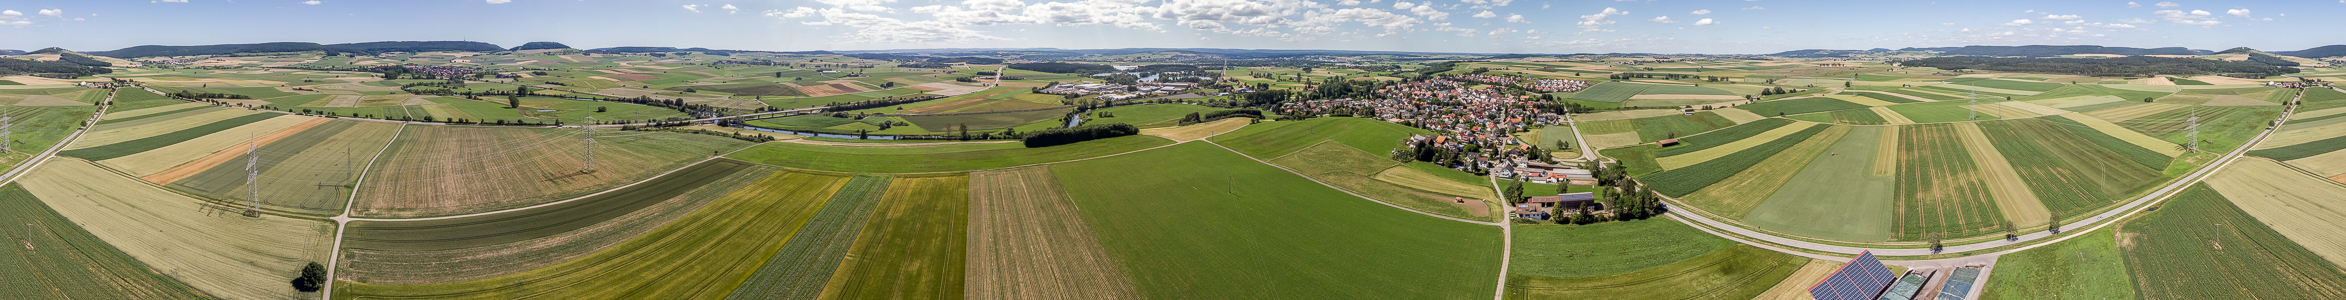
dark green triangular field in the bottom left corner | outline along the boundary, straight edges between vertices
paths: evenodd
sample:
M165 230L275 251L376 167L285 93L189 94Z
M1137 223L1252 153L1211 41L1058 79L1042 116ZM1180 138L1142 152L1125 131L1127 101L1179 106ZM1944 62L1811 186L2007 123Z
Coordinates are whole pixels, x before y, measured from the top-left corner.
M101 241L52 211L21 185L0 188L0 220L26 230L0 230L0 298L138 298L197 300L195 288L148 270L129 253Z

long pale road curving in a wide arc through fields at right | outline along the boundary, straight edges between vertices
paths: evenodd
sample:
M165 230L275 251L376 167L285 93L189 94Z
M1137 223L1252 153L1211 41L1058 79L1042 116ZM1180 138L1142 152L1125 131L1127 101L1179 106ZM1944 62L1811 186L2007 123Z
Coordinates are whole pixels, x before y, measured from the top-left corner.
M2280 122L2287 122L2290 112L2294 112L2294 108L2283 110L2280 112ZM1574 129L1574 131L1579 131L1579 129ZM2255 148L2257 143L2264 143L2264 138L2273 136L2276 131L2280 131L2278 124L2264 129L2262 134L2257 134L2255 138L2250 138L2240 148L2226 152L2224 157L2217 157L2205 169L2198 169L2198 171L2184 176L2182 180L2175 180L2175 183L2170 183L2165 188L2158 188L2156 192L2144 195L2144 197L2140 197L2135 202L2128 202L2128 204L2123 204L2118 209L2102 211L2100 216L2062 225L2062 227L2067 227L2062 232L2093 232L2093 230L2109 227L2111 223L2107 223L2107 220L2118 220L2118 218L2140 213L2147 204L2165 199L2165 197L2172 197L2172 195L2182 192L2184 188L2191 188L2194 183L2205 180L2208 176L2222 171L2224 166L2231 166L2231 162L2238 162L2243 155L2247 155L2250 148ZM2006 248L2006 251L1996 251L1996 253L1980 253L1980 255L1966 255L1966 258L1945 258L1945 260L1973 260L1973 258L1982 258L1982 255L1985 258L1994 258L1994 255L2003 255L2003 253L2027 251L2027 248L2036 248L2036 246L2057 244L2057 241L2067 241L2067 239L2081 237L2081 234L2029 232L2029 234L2020 234L2015 239L1994 239L1994 241L1982 241L1982 244L1945 246L1942 251L1931 251L1931 248L1835 246L1835 244L1802 241L1802 239L1778 237L1778 234L1769 234L1769 232L1757 232L1757 230L1741 227L1741 225L1720 223L1720 220L1713 220L1713 218L1708 218L1703 213L1687 213L1684 209L1680 209L1680 204L1677 204L1680 199L1675 199L1675 197L1663 197L1663 199L1668 199L1668 202L1663 202L1663 206L1670 209L1670 216L1673 216L1670 220L1680 220L1680 223L1687 223L1687 225L1703 227L1703 232L1713 232L1708 227L1720 227L1720 230L1727 230L1731 234L1722 234L1722 232L1713 232L1713 234L1727 237L1727 239L1736 239L1736 241L1743 241L1743 244L1752 244L1748 239L1760 239L1760 241L1767 241L1767 244L1752 244L1752 246L1771 248L1771 251L1781 251L1781 253L1792 253L1792 255L1809 255L1809 258L1830 258L1830 255L1813 255L1813 253L1802 253L1802 251L1785 251L1785 248L1776 248L1776 246L1769 246L1769 244L1781 244L1781 246L1792 246L1792 248L1806 248L1806 251L1825 251L1825 253L1846 253L1846 255L1856 255L1860 251L1872 251L1874 255L1933 255L1933 253L1966 253L1966 251L1987 251L1987 248L1999 248L1999 246L2027 244L2027 246L2020 246L2020 248ZM2032 241L2039 241L2039 239L2048 239L2048 241L2032 244ZM1835 258L1835 260L1839 260L1839 258ZM1940 260L1903 260L1903 262L1940 262Z

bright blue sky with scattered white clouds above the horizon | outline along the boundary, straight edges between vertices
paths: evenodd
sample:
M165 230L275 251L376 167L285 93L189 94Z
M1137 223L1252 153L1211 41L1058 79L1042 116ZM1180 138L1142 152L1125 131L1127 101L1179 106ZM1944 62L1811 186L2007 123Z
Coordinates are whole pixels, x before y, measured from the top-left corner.
M2346 0L5 0L0 49L474 40L502 47L1220 47L1774 54L2320 45ZM2299 12L2301 16L2292 16ZM2316 28L2311 33L2290 33Z

